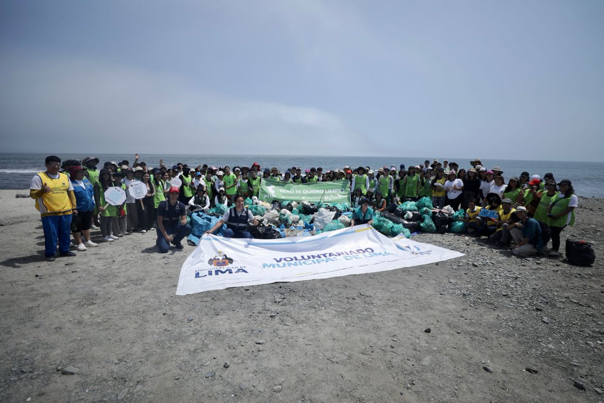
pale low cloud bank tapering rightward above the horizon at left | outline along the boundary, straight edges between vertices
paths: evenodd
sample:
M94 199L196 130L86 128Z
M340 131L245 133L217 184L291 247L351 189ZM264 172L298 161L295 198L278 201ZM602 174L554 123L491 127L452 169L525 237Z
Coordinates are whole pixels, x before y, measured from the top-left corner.
M330 155L352 153L362 137L316 108L217 94L129 66L13 57L0 75L7 152Z

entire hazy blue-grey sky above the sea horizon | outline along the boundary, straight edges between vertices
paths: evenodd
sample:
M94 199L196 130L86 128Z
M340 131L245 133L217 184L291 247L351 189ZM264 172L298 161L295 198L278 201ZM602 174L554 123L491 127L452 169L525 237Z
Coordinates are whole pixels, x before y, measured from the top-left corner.
M604 2L0 2L1 152L604 161Z

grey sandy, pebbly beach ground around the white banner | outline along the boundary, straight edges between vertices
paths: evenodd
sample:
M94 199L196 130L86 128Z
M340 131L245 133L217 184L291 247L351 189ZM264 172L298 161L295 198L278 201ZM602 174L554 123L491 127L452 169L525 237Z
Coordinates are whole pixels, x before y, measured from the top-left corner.
M590 267L420 234L466 256L177 297L193 247L135 233L45 262L18 193L0 190L1 402L604 401L603 199L562 232Z

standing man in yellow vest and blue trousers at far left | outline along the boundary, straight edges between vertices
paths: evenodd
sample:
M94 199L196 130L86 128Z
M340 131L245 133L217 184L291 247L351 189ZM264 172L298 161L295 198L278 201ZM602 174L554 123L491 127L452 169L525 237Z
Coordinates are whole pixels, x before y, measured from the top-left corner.
M61 159L46 157L46 171L31 179L30 197L36 199L36 208L42 216L44 243L47 262L54 260L59 239L60 256L76 256L69 251L72 214L77 214L76 196L69 176L60 173Z

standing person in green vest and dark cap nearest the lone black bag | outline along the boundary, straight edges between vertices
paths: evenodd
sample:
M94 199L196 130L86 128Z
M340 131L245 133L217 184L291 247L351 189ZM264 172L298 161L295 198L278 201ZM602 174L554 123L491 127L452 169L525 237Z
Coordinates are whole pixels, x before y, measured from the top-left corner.
M560 193L555 195L547 208L547 225L551 231L551 251L548 256L559 257L560 233L567 225L574 225L574 209L579 205L579 198L574 194L573 184L562 179L558 184Z

